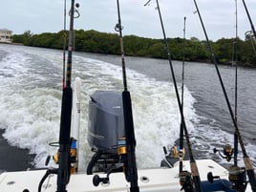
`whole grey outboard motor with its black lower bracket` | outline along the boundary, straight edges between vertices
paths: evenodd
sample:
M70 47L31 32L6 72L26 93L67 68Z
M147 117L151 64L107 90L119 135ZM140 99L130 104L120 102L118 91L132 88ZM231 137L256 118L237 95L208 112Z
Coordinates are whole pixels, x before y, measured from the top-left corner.
M88 142L95 152L87 174L108 172L118 163L117 141L125 137L122 96L113 91L97 91L89 101Z

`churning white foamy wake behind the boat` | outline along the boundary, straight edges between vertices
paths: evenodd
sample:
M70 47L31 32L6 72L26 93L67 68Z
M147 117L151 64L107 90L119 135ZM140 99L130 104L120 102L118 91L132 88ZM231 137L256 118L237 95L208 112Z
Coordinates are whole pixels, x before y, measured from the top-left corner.
M44 166L57 148L61 108L62 53L17 46L0 47L0 123L12 145L35 153L34 163ZM110 63L74 56L73 76L82 81L80 161L92 157L87 143L87 113L90 95L96 90L122 91L121 68ZM127 70L133 102L139 167L160 165L162 146L179 137L180 116L172 85ZM194 98L185 89L184 113L196 118ZM189 123L189 121L188 121ZM193 125L188 126L193 129Z

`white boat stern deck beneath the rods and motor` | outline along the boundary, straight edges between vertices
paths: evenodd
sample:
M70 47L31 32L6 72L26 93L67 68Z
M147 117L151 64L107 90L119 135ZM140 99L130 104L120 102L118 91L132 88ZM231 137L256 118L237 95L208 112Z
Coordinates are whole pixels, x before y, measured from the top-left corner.
M221 179L228 179L228 172L224 167L213 160L197 160L202 181L207 180L207 173L212 172L214 176ZM190 171L189 161L183 161L183 170ZM38 190L38 184L44 176L46 170L20 171L2 173L0 175L0 191L14 192L28 189L30 192ZM139 191L143 192L172 192L181 191L179 179L179 162L173 168L141 169L138 171ZM99 174L105 177L105 174ZM93 184L94 175L77 173L71 176L67 185L69 192L89 192L89 191L130 191L130 183L125 180L123 173L113 173L110 175L108 184ZM43 184L42 191L56 191L56 175L52 175ZM247 186L246 191L251 191Z

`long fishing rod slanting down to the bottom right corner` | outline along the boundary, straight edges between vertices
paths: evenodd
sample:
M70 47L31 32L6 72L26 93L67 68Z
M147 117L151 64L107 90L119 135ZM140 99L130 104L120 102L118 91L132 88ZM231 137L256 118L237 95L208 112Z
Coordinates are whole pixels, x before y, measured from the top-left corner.
M216 60L215 55L213 53L213 49L211 47L211 44L209 43L208 35L207 35L207 32L206 32L206 30L204 28L203 19L202 19L202 16L200 14L200 11L199 11L199 8L198 8L196 0L194 0L194 4L195 4L195 7L197 9L200 21L201 21L201 25L203 27L203 33L204 33L205 38L206 38L207 47L208 47L209 53L211 55L211 59L212 59L212 61L214 63L217 75L219 77L219 80L220 80L220 83L221 83L221 86L222 86L222 89L223 89L223 92L224 92L224 98L225 98L225 101L226 101L226 104L227 104L227 107L228 107L228 110L229 110L229 114L230 114L230 116L232 118L232 121L233 121L233 124L234 124L234 127L235 127L235 132L237 134L238 141L239 141L239 143L241 145L241 148L242 148L242 152L243 152L243 155L244 155L244 162L245 162L245 170L246 170L247 176L249 178L251 189L252 189L253 192L256 192L256 181L255 181L255 176L254 176L254 170L253 170L253 167L252 167L252 163L249 160L248 155L246 154L245 144L244 144L244 141L243 141L243 139L241 137L240 130L238 128L238 125L237 125L237 122L235 120L233 111L231 109L231 105L230 105L228 96L227 96L227 94L225 92L224 82L223 82L222 76L220 74L220 71L219 71L219 68L218 68L218 64L217 64L217 60Z

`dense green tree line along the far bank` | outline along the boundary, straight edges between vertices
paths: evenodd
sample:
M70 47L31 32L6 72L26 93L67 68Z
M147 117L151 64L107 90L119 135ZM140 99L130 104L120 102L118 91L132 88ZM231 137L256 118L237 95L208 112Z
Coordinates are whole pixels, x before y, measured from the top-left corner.
M13 43L20 43L26 46L63 49L64 36L68 32L44 32L32 34L27 31L12 36ZM68 39L68 38L66 38ZM252 39L254 41L254 39ZM253 41L249 37L222 38L211 45L219 63L231 64L234 45L237 50L237 62L239 65L256 66L256 56L253 50ZM117 33L91 31L75 31L75 51L86 53L109 53L119 54L119 37ZM145 56L154 58L167 58L165 46L162 39L126 35L123 37L124 51L126 55ZM68 45L68 43L66 43ZM210 62L210 56L205 41L196 37L183 40L180 37L168 38L168 46L172 59L182 60L183 55L187 61Z

